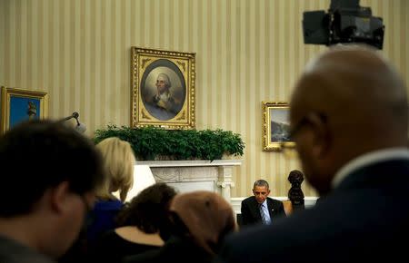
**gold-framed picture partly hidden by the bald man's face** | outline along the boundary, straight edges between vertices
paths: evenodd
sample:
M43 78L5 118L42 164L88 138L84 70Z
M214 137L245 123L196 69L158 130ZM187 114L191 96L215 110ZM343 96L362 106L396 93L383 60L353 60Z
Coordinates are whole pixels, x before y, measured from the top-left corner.
M287 102L263 102L263 151L294 148L289 138L289 107Z

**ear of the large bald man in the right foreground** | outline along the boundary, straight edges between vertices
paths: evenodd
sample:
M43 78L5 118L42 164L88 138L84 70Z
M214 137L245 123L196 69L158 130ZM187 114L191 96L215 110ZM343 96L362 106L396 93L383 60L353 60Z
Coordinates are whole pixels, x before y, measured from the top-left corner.
M331 146L331 133L326 117L322 114L310 113L307 118L313 130L313 154L317 158L324 158Z

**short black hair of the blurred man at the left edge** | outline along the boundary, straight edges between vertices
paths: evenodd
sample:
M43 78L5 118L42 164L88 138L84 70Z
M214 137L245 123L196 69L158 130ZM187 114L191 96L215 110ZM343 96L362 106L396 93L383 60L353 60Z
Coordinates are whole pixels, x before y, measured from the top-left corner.
M82 195L104 180L94 143L61 122L22 122L5 132L0 163L8 167L1 177L0 217L29 213L45 190L61 182Z

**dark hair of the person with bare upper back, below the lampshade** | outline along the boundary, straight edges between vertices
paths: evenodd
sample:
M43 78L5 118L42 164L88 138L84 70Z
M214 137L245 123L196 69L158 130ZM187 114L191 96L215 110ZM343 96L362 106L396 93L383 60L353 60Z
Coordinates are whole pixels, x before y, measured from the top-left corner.
M125 204L125 209L118 214L118 225L136 226L145 233L157 232L167 223L170 201L176 194L166 183L155 183Z

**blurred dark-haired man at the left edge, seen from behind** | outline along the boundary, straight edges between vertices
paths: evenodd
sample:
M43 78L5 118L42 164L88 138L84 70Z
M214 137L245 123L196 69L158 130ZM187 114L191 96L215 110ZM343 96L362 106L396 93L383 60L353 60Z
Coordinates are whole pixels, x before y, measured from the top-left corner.
M92 141L61 122L30 121L0 137L0 262L55 262L82 229L104 180Z

